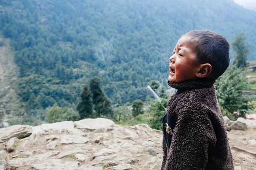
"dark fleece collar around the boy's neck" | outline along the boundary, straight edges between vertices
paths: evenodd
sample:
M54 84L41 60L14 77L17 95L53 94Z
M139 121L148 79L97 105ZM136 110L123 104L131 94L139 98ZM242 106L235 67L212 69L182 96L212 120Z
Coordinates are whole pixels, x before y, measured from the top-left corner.
M215 79L190 79L183 82L170 82L168 85L177 90L192 90L212 87L215 83Z

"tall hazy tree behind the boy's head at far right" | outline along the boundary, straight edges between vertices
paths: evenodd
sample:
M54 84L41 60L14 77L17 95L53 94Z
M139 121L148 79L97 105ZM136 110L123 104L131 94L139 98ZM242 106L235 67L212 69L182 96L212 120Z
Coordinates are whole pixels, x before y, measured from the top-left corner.
M234 40L231 42L231 48L236 53L234 56L233 64L236 65L237 68L244 68L247 66L247 55L249 54L249 46L245 43L246 37L244 33L239 33L236 35Z

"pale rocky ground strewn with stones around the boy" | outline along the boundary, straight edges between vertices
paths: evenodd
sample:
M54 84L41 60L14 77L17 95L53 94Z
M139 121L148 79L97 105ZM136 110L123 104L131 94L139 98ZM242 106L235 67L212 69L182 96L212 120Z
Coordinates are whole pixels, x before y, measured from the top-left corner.
M256 170L256 129L245 126L228 132L235 169ZM162 138L147 124L103 118L15 125L0 129L0 170L160 170Z

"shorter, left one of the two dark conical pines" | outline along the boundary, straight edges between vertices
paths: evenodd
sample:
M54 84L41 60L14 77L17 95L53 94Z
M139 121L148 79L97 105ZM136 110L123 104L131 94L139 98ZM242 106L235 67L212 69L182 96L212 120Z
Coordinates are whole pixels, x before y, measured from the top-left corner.
M84 90L81 92L81 101L77 104L76 109L81 116L81 119L87 118L93 113L93 104L91 94L88 91L88 86L84 86Z

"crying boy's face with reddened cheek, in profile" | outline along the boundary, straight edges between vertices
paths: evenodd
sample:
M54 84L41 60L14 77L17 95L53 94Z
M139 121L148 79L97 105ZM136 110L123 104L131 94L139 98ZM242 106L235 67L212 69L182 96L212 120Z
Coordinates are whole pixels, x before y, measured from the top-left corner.
M173 55L169 59L169 81L182 82L187 79L196 79L196 73L200 71L197 62L195 45L189 37L184 35L177 42Z

